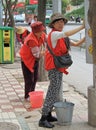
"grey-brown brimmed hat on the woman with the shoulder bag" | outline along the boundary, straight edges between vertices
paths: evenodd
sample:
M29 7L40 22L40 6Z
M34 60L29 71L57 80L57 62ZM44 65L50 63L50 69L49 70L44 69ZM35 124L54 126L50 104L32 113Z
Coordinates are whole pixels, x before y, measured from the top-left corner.
M56 21L58 21L58 20L60 20L60 19L63 19L63 21L64 21L64 24L66 24L67 23L67 19L62 15L62 14L60 14L60 13L54 13L52 16L51 16L51 18L50 18L50 23L49 23L49 27L50 28L53 28L53 23L54 22L56 22Z

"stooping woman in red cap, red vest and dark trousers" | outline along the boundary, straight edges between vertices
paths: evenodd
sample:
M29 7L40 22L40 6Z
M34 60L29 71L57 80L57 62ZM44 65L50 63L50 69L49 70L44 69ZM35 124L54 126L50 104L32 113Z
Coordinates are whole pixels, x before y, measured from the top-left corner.
M38 79L39 59L44 55L41 50L45 40L45 27L42 22L31 24L32 32L26 37L20 49L22 68L25 81L25 99L29 99L29 92L35 90Z

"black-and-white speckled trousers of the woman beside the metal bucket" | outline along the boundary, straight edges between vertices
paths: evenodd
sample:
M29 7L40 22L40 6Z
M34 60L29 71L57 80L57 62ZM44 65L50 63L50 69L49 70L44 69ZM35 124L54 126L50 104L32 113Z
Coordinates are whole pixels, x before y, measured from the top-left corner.
M59 100L59 92L62 85L63 73L59 72L57 69L50 70L48 72L48 77L50 84L42 108L42 115L48 115L52 111L53 104Z

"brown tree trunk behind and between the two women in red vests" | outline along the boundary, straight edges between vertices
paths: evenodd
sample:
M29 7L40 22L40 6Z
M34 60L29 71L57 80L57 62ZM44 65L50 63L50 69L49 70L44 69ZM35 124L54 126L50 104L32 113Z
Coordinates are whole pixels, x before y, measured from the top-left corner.
M44 25L45 25L45 15L46 15L46 0L38 0L38 20L42 21ZM40 59L38 80L39 81L48 80L47 72L45 71L44 67L44 57Z

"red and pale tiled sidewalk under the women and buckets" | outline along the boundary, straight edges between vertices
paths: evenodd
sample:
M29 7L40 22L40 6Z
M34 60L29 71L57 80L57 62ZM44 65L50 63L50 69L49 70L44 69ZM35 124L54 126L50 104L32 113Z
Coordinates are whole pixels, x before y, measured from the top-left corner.
M43 90L46 95L48 84L49 82L38 82L36 90ZM96 129L87 123L87 99L76 92L74 86L69 86L68 83L64 83L64 99L75 104L72 124L60 126L55 122L53 130ZM40 113L41 109L32 109L30 102L24 100L24 82L20 59L17 58L14 64L0 64L0 130L15 130L11 123L19 126L19 128L16 127L16 130L46 129L38 127Z

